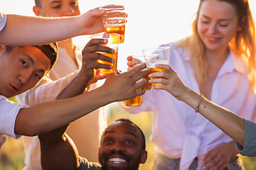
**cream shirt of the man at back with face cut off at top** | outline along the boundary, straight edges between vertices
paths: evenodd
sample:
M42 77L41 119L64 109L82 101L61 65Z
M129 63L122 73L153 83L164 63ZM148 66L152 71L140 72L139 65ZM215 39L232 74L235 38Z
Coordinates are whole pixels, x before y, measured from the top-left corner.
M22 101L22 103L26 103L27 106L33 106L46 101L54 101L60 91L62 91L79 73L78 69L82 66L81 51L81 48L75 47L75 58L78 62L77 66L65 49L59 47L58 60L53 69L50 70L48 77L44 77L40 85L36 86L36 88L16 97L17 101L19 103ZM74 74L65 77L71 72L74 72ZM60 79L62 77L64 78ZM92 84L91 89L96 88L97 84ZM85 157L91 162L98 162L97 153L100 147L100 137L106 127L106 115L103 108L99 108L75 120L73 123L70 123L67 134L71 137L73 142L75 142L81 157ZM24 169L41 169L40 142L38 137L23 137L23 142L26 152L26 167Z

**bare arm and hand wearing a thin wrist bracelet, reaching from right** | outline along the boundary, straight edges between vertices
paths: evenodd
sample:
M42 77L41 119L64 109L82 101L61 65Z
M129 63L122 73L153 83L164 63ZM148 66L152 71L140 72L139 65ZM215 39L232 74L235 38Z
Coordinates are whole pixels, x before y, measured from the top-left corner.
M189 89L185 84L183 84L174 69L169 65L159 64L158 67L166 69L167 72L151 74L151 78L163 77L159 79L152 79L151 82L164 83L165 85L154 86L154 89L163 89L168 91L179 101L187 103L188 106L191 106L195 110L199 101L201 101L198 113L201 113L201 115L210 120L210 122L220 128L220 130L223 130L225 134L233 138L235 142L238 142L238 144L243 146L245 140L245 121L242 117L208 101L206 98L201 96L201 94Z

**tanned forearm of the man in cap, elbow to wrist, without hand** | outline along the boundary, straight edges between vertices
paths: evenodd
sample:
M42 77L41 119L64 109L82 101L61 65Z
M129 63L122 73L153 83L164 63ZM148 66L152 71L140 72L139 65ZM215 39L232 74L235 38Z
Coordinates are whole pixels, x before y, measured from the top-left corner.
M97 89L60 101L22 108L16 118L16 135L39 135L68 125L83 115L113 102L106 91Z

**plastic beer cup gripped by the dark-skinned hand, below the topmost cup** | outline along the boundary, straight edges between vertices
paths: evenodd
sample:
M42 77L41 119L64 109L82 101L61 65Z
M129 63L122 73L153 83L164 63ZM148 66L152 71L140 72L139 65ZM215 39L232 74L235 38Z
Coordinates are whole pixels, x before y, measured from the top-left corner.
M107 34L97 34L97 35L92 35L90 37L92 38L97 38L97 39L106 39L107 40L107 44L102 44L105 45L107 47L110 47L114 50L114 54L110 54L107 52L99 52L102 55L105 55L107 57L110 57L112 59L114 59L114 63L110 63L110 62L105 62L102 60L97 60L97 62L101 63L101 64L108 64L108 65L112 65L113 68L112 69L99 69L99 72L101 74L109 74L109 73L114 73L117 72L117 57L118 57L118 47L119 47L119 38L120 35L116 34L116 33L107 33Z

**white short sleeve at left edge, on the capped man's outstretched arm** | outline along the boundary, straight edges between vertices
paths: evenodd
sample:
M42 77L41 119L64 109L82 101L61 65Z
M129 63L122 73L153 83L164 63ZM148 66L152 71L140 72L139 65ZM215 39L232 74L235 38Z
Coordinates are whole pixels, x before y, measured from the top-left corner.
M14 125L18 111L26 106L9 101L8 98L0 96L0 135L8 135L16 140L20 135L14 133Z

